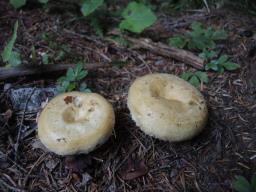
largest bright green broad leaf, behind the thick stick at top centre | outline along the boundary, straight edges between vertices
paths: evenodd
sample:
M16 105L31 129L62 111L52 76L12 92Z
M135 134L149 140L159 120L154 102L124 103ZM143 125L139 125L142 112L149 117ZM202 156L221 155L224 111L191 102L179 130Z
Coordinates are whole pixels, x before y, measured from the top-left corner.
M150 8L137 2L130 2L122 16L124 20L119 24L119 28L134 33L141 33L145 28L154 24L157 19Z

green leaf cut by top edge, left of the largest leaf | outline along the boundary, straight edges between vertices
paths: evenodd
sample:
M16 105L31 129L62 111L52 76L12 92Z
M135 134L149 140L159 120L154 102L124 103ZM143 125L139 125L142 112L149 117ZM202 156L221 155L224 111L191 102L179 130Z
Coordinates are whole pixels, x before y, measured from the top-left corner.
M88 16L93 13L104 3L104 0L83 0L81 6L81 12L84 16Z

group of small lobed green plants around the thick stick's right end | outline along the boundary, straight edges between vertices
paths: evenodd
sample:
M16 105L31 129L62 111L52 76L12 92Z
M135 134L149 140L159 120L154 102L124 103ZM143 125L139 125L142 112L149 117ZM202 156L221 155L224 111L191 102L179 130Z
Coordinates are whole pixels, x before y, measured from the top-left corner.
M214 30L212 27L204 28L199 22L193 22L191 29L191 31L184 35L169 38L169 44L178 48L188 48L198 52L201 51L199 57L205 60L205 70L213 70L221 74L224 70L232 71L240 67L238 64L230 62L227 55L221 55L217 58L215 51L216 42L227 38L227 33L224 30ZM203 77L201 77L202 73L204 73ZM206 83L206 78L204 77L207 77L207 73L200 72L193 74L188 72L185 73L183 77L197 87L200 81ZM203 79L205 81L203 81Z

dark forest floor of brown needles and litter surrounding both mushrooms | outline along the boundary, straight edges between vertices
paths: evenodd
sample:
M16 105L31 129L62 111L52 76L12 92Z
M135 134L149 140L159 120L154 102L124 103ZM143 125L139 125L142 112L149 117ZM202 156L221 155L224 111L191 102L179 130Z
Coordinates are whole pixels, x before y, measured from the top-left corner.
M48 14L42 9L14 12L0 6L0 45L10 36L13 23L19 18L16 48L24 63L30 63L31 46L56 56L58 46L68 44L70 54L62 61L75 63L84 58L89 62L125 62L122 68L97 69L85 80L89 87L106 96L116 109L115 134L89 155L60 157L45 151L36 139L36 113L13 111L6 94L0 96L0 190L1 191L232 191L235 175L250 178L256 170L256 95L253 84L254 40L241 32L255 29L255 18L229 11L184 14L187 24L170 28L168 24L182 21L161 17L164 27L145 32L157 40L166 34L184 31L195 18L206 26L225 27L229 39L220 44L234 62L242 67L236 72L216 76L202 87L209 106L209 122L198 137L182 143L168 143L143 134L126 108L129 84L137 76L150 72L179 75L189 67L172 59L146 51L126 49L96 38L84 20L72 20L71 13ZM189 20L190 19L190 20ZM173 26L171 26L173 27ZM157 30L161 31L157 31ZM42 39L47 32L50 42ZM1 47L2 50L2 47ZM21 78L14 87L44 87L57 77ZM3 88L2 82L1 87ZM12 110L8 118L7 110ZM8 120L7 120L8 119ZM21 137L18 152L15 143ZM16 145L17 146L17 145ZM147 172L146 174L144 174ZM137 174L137 175L136 175ZM137 177L140 174L144 176Z

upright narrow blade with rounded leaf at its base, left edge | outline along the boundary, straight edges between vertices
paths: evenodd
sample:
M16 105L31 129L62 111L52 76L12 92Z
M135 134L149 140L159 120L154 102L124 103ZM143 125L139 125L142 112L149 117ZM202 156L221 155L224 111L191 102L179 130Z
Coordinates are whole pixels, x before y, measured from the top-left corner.
M18 21L16 21L14 25L12 37L10 38L8 43L5 45L4 50L1 54L3 61L7 63L7 66L11 66L11 67L21 64L20 54L16 51L13 51L14 43L17 39L18 26L19 26L19 23Z

